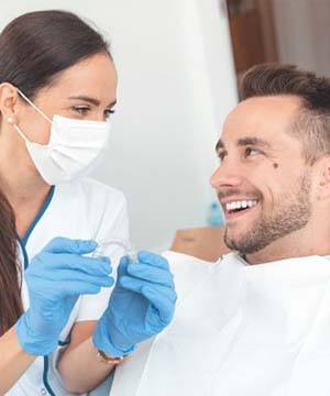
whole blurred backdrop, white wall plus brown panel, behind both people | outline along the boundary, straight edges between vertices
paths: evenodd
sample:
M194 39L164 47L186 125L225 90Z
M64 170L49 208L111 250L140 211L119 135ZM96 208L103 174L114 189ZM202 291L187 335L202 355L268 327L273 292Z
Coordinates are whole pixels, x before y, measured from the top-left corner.
M330 76L330 0L11 0L0 29L43 9L73 11L111 42L118 106L94 177L125 194L138 248L221 223L209 177L245 69L280 62Z

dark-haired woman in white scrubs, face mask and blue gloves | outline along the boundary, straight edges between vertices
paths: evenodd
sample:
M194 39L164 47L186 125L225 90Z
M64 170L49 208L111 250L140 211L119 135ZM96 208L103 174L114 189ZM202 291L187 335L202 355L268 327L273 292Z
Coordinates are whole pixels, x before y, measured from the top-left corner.
M72 13L29 13L0 35L1 395L86 393L172 319L164 258L122 257L109 300L122 251L90 255L129 238L123 195L84 177L116 89L107 43Z

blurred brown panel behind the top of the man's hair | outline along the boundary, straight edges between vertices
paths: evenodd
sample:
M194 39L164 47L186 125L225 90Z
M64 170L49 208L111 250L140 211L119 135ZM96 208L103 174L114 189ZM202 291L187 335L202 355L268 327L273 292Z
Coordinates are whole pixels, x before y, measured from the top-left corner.
M264 62L330 76L329 0L228 0L235 73Z

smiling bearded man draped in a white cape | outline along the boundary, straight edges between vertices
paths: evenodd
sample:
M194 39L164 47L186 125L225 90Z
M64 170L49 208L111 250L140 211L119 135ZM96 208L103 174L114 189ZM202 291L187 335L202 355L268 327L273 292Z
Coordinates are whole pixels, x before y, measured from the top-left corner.
M241 98L211 178L234 252L167 254L175 319L111 396L330 395L330 81L261 65Z

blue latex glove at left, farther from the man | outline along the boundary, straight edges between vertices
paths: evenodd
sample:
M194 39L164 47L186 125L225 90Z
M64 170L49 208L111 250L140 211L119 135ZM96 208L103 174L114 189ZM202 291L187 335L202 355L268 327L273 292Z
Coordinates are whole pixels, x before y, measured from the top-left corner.
M114 283L109 258L81 256L96 246L94 241L55 238L33 257L25 271L30 308L15 324L25 352L53 352L78 297Z

